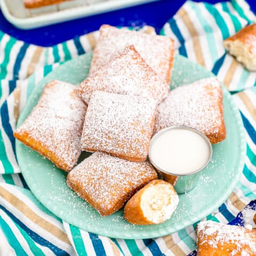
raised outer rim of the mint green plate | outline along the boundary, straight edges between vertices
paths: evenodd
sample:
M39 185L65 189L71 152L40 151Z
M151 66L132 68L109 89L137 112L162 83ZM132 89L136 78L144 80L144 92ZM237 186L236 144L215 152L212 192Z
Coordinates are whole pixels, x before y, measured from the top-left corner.
M85 55L90 57L90 55L92 55L92 53L85 53L85 54L79 56L78 58L84 58ZM179 55L179 54L177 54L177 55ZM175 57L176 57L176 55L175 55ZM179 55L179 58L186 59L186 61L192 62L193 65L195 65L195 64L198 65L198 63L195 63L195 62L183 57L182 55ZM73 60L69 60L67 62L76 61L76 60L77 60L77 58L73 59ZM67 62L63 63L63 65L65 65ZM62 67L63 65L61 65L59 67ZM57 67L57 69L59 67ZM54 71L55 69L53 69L52 71ZM47 76L49 76L52 73L52 71L49 74L47 74ZM209 74L211 74L212 76L215 77L215 75L213 73L211 73L211 71L209 71L209 70L207 70L207 71L209 72ZM39 81L38 84L40 82L42 82L44 79L46 79L47 76L43 77L43 79L41 81ZM30 98L33 97L34 92L37 90L37 87L38 86L36 85L34 87L34 89L31 91L31 94L29 95L29 97L27 99L27 102L29 102ZM181 229L186 228L190 225L193 225L195 222L197 222L197 221L203 219L204 217L206 217L207 215L211 214L215 209L217 209L221 204L223 204L226 201L226 199L230 196L230 194L232 193L232 191L236 187L236 184L239 181L239 178L241 177L241 174L242 174L242 171L243 171L243 167L244 167L244 163L245 163L245 156L246 156L246 139L245 139L245 131L244 131L244 126L243 126L243 122L242 122L242 117L239 114L239 109L236 106L234 99L231 97L231 94L227 91L226 87L223 86L223 84L222 84L222 91L223 91L223 98L226 97L227 101L230 104L230 108L233 110L233 113L235 114L235 118L237 120L237 125L239 127L239 131L238 131L239 142L241 142L241 145L239 145L241 147L241 157L240 157L239 163L236 165L237 172L235 173L235 175L233 177L233 180L230 183L230 186L228 187L227 190L225 190L225 193L221 194L222 196L220 197L218 202L215 203L215 204L211 204L205 211L202 212L202 214L198 214L198 215L196 215L196 217L189 217L188 220L185 220L185 221L182 222L182 225L180 225L180 227L179 227L179 225L177 225L178 226L177 230L174 230L174 231L172 230L171 226L166 226L162 230L161 229L157 229L157 230L153 229L153 230L147 230L147 231L142 230L139 235L137 235L138 230L132 231L131 232L132 234L130 234L129 232L123 232L122 234L119 234L119 230L111 230L111 234L109 235L108 230L107 229L102 229L100 226L97 228L97 230L95 230L95 229L92 230L91 226L90 226L85 231L88 231L88 232L91 232L91 233L94 233L94 234L98 234L98 235L101 235L101 236L106 236L106 237L111 237L111 238L119 238L119 239L147 239L147 238L161 237L161 236L165 236L165 235L170 235L170 234L172 234L172 233L174 233L178 230L181 230ZM26 102L26 105L27 105L27 102ZM24 112L24 110L26 110L26 105L22 109L22 111L19 115L19 119L18 119L18 122L17 122L17 127L20 126L21 119L22 119L21 117L23 116L22 113ZM19 148L20 148L19 144L22 144L22 143L20 141L18 141L17 139L15 139L15 149L16 149L16 152L17 152L17 160L18 160L18 163L19 163L19 166L20 166L21 173L22 173L25 181L27 182L27 180L29 181L30 178L29 178L29 175L26 174L26 172L22 171L22 167L20 165L19 158L21 156L19 154ZM58 218L60 218L63 221L66 221L66 222L70 223L71 225L74 225L74 226L77 227L77 224L80 221L79 219L77 219L78 221L74 221L75 218L70 218L69 215L67 215L67 218L63 218L63 216L60 217L60 214L59 214L60 209L57 208L57 207L52 206L51 202L49 202L49 201L47 202L47 200L44 200L43 194L40 193L39 190L36 189L35 186L31 185L31 183L33 183L33 182L27 182L27 183L30 183L30 185L28 184L29 189L31 190L31 192L34 194L34 196L37 198L37 200L41 204L43 204L49 211L51 211ZM74 223L74 222L76 222L76 223ZM83 228L81 228L81 229L83 229ZM136 233L136 234L133 234L133 233Z

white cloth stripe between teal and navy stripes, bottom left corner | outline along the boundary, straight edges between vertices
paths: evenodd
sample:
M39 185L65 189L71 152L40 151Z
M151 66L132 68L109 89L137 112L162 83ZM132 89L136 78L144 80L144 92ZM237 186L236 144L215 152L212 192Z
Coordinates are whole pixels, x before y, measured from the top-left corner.
M11 228L14 236L19 241L21 247L28 255L34 255L33 252L30 250L29 245L26 241L26 239L23 237L23 235L20 233L20 230L14 225L14 222L12 219L3 211L0 209L0 215L3 218L3 220L7 223L7 225Z

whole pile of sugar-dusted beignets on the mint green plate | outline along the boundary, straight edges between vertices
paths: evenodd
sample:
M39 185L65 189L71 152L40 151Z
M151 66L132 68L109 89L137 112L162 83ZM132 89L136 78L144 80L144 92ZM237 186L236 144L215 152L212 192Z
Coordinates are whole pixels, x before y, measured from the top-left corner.
M124 218L136 225L170 219L177 179L158 180L147 160L153 133L186 125L212 143L226 137L220 82L170 91L173 61L171 38L103 25L89 77L78 87L45 85L14 137L69 172L67 185L102 216L125 205ZM82 150L93 154L76 165Z

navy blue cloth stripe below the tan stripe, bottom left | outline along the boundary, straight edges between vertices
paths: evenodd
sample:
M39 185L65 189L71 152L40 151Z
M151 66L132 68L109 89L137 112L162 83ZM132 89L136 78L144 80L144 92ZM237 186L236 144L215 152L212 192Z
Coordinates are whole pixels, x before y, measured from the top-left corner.
M5 207L0 205L0 209L2 209L17 225L19 225L36 243L48 247L53 253L59 256L69 255L66 251L63 251L59 247L55 246L51 242L44 239L42 236L39 236L33 230L29 229L26 225L24 225L19 219L17 219L11 212L9 212Z

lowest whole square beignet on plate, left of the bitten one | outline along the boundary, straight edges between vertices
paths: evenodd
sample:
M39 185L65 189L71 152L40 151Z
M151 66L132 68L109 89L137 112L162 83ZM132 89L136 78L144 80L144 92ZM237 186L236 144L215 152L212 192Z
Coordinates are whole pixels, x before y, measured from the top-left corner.
M121 209L157 173L149 162L134 163L96 152L67 176L67 185L102 216Z

